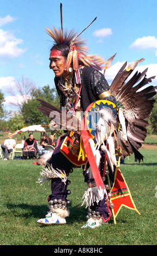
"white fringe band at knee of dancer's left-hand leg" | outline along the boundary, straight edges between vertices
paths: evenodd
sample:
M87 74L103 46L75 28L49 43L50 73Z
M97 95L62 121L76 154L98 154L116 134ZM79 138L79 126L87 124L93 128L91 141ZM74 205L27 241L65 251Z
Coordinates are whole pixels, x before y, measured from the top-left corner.
M41 183L43 185L45 182L50 181L53 178L60 178L64 184L66 184L67 181L67 175L66 173L59 169L55 170L50 164L48 164L48 167L43 167L42 172L40 173L42 178L39 178L37 183Z

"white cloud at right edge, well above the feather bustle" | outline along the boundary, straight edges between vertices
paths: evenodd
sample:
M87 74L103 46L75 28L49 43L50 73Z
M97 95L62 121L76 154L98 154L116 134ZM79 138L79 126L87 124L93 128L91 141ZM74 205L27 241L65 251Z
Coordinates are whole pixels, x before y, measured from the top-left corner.
M147 50L147 49L157 49L157 38L155 36L143 36L142 38L136 39L133 44L129 46L133 49Z

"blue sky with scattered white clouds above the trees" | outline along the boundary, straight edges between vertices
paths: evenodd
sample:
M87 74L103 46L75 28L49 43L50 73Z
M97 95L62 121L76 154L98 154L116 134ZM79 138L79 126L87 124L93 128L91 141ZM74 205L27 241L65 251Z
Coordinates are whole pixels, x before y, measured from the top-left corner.
M60 3L63 4L63 28L74 28L89 45L90 54L108 59L117 53L112 68L106 71L110 83L123 62L145 58L138 65L148 67L148 76L156 75L157 34L156 0L1 0L0 11L0 89L11 100L8 88L22 76L37 87L54 87L49 69L53 45L45 28L60 27Z

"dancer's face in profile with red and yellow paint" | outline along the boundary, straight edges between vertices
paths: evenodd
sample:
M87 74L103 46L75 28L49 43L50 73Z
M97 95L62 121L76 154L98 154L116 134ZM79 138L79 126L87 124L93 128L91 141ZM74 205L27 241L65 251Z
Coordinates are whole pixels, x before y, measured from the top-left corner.
M61 51L52 50L50 53L50 69L55 73L56 77L66 75L67 71L64 70L67 59L62 56Z

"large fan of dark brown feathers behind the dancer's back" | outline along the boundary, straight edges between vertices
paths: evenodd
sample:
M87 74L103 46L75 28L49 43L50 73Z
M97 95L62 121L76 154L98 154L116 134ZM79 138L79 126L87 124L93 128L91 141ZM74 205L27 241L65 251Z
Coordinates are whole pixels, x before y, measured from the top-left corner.
M143 161L143 156L138 149L141 148L147 136L146 127L149 125L147 119L153 109L154 99L152 98L156 94L153 86L145 88L155 78L155 76L147 78L148 69L143 72L136 71L129 79L135 66L143 60L142 58L130 63L127 68L127 64L123 64L110 86L110 92L116 97L116 101L123 109L126 122L128 141L122 142L121 133L120 135L117 133L122 153L124 156L127 156L128 153L134 153L135 159L139 161ZM127 78L129 80L125 83Z

